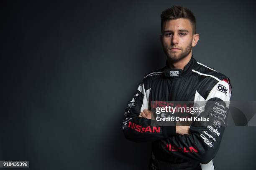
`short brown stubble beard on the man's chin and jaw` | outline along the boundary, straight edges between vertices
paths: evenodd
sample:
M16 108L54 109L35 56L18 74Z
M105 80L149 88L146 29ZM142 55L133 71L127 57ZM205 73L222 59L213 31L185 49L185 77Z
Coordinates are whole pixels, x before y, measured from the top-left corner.
M185 50L182 50L182 52L180 53L178 51L171 52L169 47L164 47L164 52L167 56L167 59L172 62L177 62L187 57L187 55L189 55L191 50L192 50L192 42L185 48Z

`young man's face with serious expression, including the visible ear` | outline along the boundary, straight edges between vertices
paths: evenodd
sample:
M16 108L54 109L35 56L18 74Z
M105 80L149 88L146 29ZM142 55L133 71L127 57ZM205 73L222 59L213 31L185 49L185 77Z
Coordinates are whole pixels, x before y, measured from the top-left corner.
M192 31L190 21L184 18L168 20L163 24L161 42L168 60L179 61L190 54L199 39L199 35L193 35Z

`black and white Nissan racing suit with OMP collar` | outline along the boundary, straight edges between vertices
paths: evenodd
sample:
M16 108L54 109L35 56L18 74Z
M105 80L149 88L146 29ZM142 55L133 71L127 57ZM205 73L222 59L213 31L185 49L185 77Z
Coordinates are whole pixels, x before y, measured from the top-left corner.
M166 61L165 67L145 75L128 103L123 133L131 141L152 142L149 169L214 170L212 159L218 152L225 126L192 124L189 135L179 135L176 126L154 127L153 120L138 116L144 109L151 110L151 101L205 101L204 114L207 115L213 107L220 107L220 102L223 109L228 110L230 96L229 78L197 62L193 55L184 70L170 69ZM207 106L209 101L216 103Z

